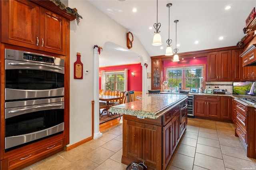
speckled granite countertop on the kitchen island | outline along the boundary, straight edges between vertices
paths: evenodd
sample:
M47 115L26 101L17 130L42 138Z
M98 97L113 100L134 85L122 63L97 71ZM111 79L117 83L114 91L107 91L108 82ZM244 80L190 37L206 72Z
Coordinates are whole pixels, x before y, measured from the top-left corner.
M139 95L136 98L141 100L112 106L109 111L137 116L141 119L158 119L188 97L179 94L148 94Z

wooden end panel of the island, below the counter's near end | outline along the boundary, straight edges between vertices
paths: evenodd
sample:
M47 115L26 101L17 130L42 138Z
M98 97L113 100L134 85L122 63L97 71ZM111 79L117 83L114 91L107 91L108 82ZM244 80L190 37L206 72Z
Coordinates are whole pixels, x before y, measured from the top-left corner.
M161 170L162 127L148 124L146 121L130 121L125 117L130 116L124 115L122 163L129 165L135 160Z

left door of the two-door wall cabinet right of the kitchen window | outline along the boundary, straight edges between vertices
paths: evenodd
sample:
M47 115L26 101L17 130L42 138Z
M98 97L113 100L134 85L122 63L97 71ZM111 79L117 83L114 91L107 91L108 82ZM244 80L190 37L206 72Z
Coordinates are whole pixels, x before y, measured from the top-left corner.
M218 52L208 53L207 56L207 78L208 81L217 81L218 75Z

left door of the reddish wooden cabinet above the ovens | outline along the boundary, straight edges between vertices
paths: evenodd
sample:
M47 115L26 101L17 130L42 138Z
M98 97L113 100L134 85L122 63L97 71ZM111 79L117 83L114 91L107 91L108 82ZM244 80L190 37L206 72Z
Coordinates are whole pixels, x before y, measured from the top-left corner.
M1 1L1 42L39 49L40 7L31 1Z

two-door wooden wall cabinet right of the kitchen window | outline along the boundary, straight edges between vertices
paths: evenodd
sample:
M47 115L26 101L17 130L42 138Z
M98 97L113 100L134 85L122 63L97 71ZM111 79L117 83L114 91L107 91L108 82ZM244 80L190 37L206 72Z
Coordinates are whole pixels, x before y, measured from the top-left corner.
M208 81L231 81L231 55L231 50L208 53Z

